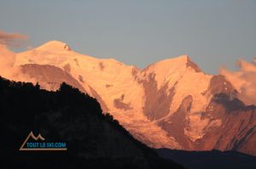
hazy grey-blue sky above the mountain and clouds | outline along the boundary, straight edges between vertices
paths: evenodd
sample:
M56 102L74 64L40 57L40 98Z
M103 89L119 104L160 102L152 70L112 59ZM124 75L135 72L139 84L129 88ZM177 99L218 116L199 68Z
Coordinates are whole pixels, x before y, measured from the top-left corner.
M256 57L256 0L0 0L0 30L139 68L189 54L217 73Z

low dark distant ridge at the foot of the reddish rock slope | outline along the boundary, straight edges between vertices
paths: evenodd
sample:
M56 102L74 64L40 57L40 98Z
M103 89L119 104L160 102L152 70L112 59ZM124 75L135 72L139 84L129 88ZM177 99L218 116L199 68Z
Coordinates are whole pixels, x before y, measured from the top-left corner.
M157 149L158 154L166 159L172 159L187 168L196 169L255 169L256 157L237 151L184 151L173 149Z

